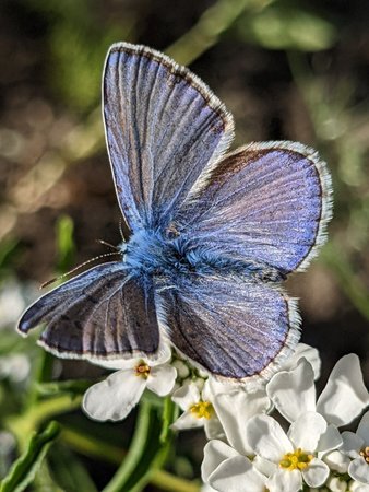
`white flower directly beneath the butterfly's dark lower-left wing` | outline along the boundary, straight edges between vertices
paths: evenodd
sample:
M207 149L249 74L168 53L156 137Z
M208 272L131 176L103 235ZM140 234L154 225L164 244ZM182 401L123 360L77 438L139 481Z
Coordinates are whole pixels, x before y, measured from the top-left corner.
M146 388L158 396L168 395L177 377L169 360L170 352L166 351L157 361L130 359L105 363L105 366L122 368L87 389L83 410L94 420L117 421L129 414Z

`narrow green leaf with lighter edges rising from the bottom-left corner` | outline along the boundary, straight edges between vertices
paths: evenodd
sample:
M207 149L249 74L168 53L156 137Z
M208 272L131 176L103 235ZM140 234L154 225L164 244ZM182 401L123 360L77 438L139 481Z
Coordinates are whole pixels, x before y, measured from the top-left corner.
M50 422L45 431L34 434L25 453L13 464L0 484L0 492L22 492L33 482L48 448L59 435L60 426Z

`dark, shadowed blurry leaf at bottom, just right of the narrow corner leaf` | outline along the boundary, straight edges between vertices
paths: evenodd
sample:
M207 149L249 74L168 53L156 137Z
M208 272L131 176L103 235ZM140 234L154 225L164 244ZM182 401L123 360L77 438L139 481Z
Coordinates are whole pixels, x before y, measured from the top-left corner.
M64 492L96 492L96 487L78 457L56 443L48 454L50 473Z

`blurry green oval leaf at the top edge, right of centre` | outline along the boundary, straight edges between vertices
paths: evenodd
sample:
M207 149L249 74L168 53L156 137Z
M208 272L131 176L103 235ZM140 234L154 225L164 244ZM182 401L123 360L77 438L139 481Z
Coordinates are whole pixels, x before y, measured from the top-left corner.
M278 1L260 13L242 16L239 37L267 49L319 51L336 40L335 26L319 13L288 1Z

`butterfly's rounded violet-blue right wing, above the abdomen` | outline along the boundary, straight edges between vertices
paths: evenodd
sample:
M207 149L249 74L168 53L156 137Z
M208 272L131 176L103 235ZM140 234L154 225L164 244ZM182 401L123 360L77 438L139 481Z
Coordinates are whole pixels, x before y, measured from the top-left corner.
M324 242L331 179L316 151L295 142L252 143L226 155L175 219L190 248L303 269Z

